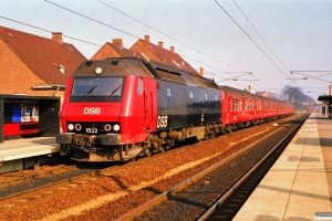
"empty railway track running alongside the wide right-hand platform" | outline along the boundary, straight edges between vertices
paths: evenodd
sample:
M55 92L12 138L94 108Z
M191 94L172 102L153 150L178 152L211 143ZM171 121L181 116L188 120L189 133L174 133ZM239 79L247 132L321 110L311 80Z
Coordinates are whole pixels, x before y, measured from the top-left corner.
M272 134L117 217L116 220L231 220L307 117L280 126ZM268 139L270 146L266 147ZM259 149L266 151L261 152L260 159L250 160L251 169L248 170L248 165L241 165L241 161L243 158L251 158L251 152ZM227 172L235 167L241 170L238 177ZM226 179L237 181L230 185Z

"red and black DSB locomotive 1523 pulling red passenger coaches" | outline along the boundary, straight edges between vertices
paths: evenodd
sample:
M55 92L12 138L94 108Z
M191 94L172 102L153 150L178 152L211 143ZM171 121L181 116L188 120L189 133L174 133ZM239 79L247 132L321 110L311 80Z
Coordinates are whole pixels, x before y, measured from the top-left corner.
M125 161L293 112L292 104L153 61L87 61L69 78L56 143L75 160Z

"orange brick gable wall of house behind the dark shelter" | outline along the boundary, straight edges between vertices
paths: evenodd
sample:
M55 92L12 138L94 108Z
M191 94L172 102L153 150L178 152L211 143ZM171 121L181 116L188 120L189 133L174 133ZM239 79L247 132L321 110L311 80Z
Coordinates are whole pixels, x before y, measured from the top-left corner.
M48 85L38 77L20 57L0 40L0 94L14 95L27 94L28 96L63 96L63 91L32 90L34 85Z

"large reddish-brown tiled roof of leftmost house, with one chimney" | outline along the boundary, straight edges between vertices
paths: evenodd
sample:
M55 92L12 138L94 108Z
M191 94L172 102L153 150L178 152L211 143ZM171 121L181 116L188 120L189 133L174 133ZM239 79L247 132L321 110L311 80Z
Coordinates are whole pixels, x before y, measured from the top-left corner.
M86 57L72 44L62 42L62 33L52 39L0 27L2 40L20 60L50 85L65 85Z

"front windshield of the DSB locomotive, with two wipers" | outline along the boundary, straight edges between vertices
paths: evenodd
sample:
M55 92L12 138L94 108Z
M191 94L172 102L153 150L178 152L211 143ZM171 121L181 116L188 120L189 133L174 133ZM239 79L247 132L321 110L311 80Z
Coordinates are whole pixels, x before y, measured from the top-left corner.
M71 102L120 102L123 77L77 77L72 86Z

